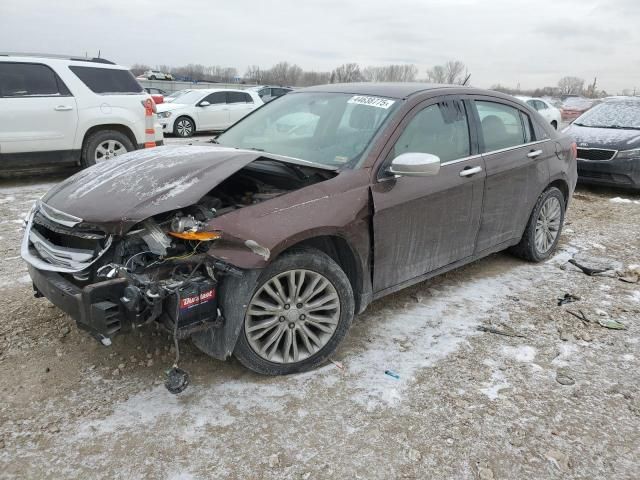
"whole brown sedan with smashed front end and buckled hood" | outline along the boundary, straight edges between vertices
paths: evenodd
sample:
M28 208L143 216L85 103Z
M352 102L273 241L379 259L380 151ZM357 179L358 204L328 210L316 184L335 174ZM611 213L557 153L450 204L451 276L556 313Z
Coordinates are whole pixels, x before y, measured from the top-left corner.
M257 372L304 371L374 299L506 248L549 258L577 176L568 136L467 87L299 90L217 143L52 188L22 245L36 296L104 343L158 322Z

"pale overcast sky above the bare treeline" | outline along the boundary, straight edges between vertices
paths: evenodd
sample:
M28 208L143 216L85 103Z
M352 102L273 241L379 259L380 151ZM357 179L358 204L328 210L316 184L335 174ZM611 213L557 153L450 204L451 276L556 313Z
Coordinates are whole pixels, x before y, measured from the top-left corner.
M462 60L471 83L640 90L640 0L0 0L0 50L305 70Z

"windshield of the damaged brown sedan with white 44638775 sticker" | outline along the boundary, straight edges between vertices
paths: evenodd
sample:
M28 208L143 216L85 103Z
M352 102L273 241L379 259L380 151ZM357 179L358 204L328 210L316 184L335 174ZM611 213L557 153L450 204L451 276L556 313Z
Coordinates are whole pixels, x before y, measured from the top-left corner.
M217 138L330 167L358 162L400 102L343 93L290 93L269 102Z

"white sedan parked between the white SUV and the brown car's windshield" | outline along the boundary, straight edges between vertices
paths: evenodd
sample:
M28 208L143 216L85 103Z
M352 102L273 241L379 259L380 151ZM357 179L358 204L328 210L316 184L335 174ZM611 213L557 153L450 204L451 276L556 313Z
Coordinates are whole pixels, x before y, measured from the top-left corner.
M164 133L190 137L195 132L226 130L263 104L253 90L191 90L158 105L158 119Z

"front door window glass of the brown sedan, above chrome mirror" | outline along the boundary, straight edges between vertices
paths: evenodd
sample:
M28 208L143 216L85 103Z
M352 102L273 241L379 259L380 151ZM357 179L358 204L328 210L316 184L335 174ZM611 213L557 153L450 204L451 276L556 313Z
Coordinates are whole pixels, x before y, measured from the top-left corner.
M468 157L469 124L462 102L448 100L418 112L398 138L393 156L408 152L431 153L443 162Z

